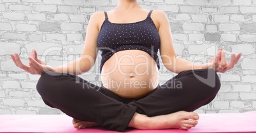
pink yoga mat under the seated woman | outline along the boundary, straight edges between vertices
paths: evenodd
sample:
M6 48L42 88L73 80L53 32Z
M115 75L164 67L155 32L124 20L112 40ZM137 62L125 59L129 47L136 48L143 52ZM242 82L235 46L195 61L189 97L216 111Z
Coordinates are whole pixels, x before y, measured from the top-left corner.
M0 132L115 132L101 127L76 130L67 115L0 115ZM189 130L125 130L129 133L256 132L256 111L200 114L199 124Z

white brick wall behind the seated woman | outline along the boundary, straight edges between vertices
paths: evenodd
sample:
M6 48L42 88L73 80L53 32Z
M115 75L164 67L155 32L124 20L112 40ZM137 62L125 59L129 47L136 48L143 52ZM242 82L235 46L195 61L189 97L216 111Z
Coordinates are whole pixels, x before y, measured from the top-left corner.
M79 55L90 15L113 9L118 0L1 0L0 1L0 115L60 114L45 106L36 91L38 75L17 68L9 54L20 54L27 64L31 49L46 63L60 65L69 54ZM256 109L255 0L138 0L146 9L166 12L176 54L188 60L208 58L215 47L243 53L238 65L219 74L222 87L199 113L238 113ZM73 51L69 51L70 48ZM52 50L51 50L52 49ZM50 52L49 52L50 50ZM62 59L62 56L64 58ZM100 58L100 56L99 56ZM99 63L97 63L99 65ZM84 78L96 81L98 67ZM161 68L160 79L165 68Z

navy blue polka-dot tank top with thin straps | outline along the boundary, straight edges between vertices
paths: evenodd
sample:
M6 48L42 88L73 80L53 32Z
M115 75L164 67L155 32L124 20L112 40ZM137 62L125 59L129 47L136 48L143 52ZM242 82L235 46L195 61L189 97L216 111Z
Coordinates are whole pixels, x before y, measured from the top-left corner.
M113 54L129 49L138 49L150 54L160 68L157 56L160 37L150 17L152 11L148 13L145 20L134 23L111 23L106 11L104 13L106 18L97 38L97 47L101 51L102 57L100 72L104 63Z

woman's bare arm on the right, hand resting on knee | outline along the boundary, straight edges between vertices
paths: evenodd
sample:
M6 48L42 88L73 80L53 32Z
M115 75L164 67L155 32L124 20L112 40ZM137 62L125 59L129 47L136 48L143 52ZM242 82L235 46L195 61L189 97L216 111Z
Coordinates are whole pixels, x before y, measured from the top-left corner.
M160 56L162 63L166 66L167 70L180 73L184 70L196 70L203 68L213 68L217 72L226 72L238 63L241 53L237 56L232 54L231 62L227 63L225 60L225 53L222 49L218 51L215 57L211 58L206 64L194 63L192 61L178 58L174 51L173 39L171 37L171 27L164 11L155 11L152 17L157 20L157 27L159 28L160 36Z

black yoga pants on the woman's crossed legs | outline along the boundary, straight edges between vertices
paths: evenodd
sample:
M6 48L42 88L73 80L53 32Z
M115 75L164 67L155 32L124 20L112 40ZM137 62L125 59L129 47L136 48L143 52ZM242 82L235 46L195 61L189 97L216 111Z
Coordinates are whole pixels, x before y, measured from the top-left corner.
M186 70L137 99L121 98L68 73L43 73L36 87L46 105L78 120L124 132L135 112L153 117L194 111L210 103L220 89L220 80L213 69Z

